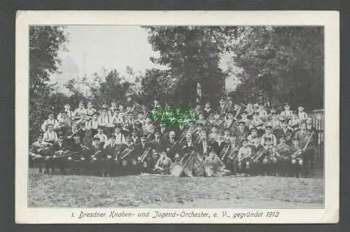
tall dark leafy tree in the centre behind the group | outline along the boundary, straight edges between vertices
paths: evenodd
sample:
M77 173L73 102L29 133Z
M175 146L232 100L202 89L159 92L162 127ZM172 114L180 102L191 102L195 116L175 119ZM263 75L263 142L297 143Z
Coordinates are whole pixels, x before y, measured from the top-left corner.
M154 64L167 66L167 71L151 71L158 77L154 84L167 82L170 92L158 85L158 95L168 95L174 103L196 102L197 82L202 86L202 99L218 103L223 95L225 73L218 67L221 53L230 49L230 38L237 27L146 27L148 41L159 57ZM151 73L148 73L150 75ZM146 89L151 90L151 89ZM149 94L151 95L151 93Z

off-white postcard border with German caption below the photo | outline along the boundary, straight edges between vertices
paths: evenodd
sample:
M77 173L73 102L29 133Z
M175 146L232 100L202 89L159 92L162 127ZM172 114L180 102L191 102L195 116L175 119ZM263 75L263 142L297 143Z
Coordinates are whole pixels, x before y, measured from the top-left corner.
M325 27L325 156L324 209L141 209L28 208L29 25L300 25ZM25 224L63 223L336 223L339 218L339 13L336 11L19 11L16 19L15 76L15 221ZM177 213L176 217L141 218L137 212ZM132 217L84 217L80 212L134 213ZM193 212L211 217L190 217ZM227 218L244 212L279 212L279 217ZM181 214L190 213L186 217ZM71 217L72 213L74 217ZM214 214L218 214L215 217ZM223 217L222 217L223 216Z

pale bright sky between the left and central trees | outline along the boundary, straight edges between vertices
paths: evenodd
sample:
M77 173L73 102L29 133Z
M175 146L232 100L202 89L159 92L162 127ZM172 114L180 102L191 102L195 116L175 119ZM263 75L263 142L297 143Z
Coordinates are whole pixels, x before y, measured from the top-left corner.
M67 26L66 32L70 41L66 44L68 52L59 52L62 73L51 78L59 83L59 87L76 75L102 73L103 67L107 70L116 68L127 78L130 78L126 74L127 66L135 72L144 72L146 68L165 68L150 61L150 57L158 57L158 54L148 43L146 29L139 26L76 25ZM227 61L223 60L223 66ZM134 82L131 78L127 81Z

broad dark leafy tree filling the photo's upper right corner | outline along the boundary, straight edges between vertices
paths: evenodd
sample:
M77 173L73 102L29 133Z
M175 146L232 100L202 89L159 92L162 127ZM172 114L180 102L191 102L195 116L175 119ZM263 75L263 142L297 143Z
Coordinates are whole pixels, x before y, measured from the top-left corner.
M323 108L323 28L243 27L232 45L235 64L244 69L235 93L295 108ZM260 94L259 94L260 93Z

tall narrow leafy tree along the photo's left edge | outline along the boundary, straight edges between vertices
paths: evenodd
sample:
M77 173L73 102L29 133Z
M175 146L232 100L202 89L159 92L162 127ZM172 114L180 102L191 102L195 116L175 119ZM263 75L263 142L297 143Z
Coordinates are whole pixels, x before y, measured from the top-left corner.
M49 84L50 75L58 72L61 60L59 50L68 35L64 27L31 26L29 27L29 133L39 133L41 119L52 110L45 105L52 91Z

